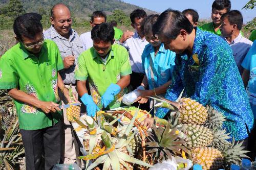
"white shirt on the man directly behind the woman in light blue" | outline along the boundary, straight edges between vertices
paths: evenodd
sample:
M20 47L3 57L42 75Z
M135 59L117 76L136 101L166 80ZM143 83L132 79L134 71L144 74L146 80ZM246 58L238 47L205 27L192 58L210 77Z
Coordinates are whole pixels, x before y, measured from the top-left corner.
M129 52L130 63L132 66L132 71L138 73L144 73L142 67L141 55L144 51L145 46L148 44L145 38L140 38L139 34L135 32L135 34L119 44L123 45Z

